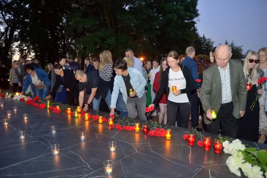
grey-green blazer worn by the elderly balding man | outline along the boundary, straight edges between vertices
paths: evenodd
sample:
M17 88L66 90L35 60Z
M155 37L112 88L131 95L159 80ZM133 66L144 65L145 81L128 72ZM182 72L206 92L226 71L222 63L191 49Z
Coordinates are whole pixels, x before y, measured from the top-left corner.
M239 119L241 117L239 111L245 111L246 109L247 82L240 61L230 59L229 69L234 105L233 116ZM222 103L222 83L216 63L203 72L203 82L199 92L199 98L204 112L207 112L207 110L211 108L214 108L217 112L219 111ZM210 124L211 122L212 120L206 118L206 115L204 114L204 123Z

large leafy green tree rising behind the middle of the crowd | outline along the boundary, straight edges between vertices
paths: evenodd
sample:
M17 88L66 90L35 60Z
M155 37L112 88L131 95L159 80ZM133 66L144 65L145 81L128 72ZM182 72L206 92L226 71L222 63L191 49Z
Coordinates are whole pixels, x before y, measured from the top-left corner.
M114 59L127 48L145 58L180 53L195 39L192 29L199 16L197 0L77 0L72 6L66 32L76 34L78 55L92 58L105 49Z

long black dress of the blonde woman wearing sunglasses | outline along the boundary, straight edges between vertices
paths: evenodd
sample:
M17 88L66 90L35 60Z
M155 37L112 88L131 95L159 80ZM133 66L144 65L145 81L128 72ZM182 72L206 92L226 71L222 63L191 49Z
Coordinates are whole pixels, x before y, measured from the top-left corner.
M247 91L247 104L246 112L243 118L240 118L239 129L237 138L243 140L249 140L258 142L259 124L260 124L260 103L257 99L256 104L251 111L251 105L256 99L257 87L253 85L249 91Z

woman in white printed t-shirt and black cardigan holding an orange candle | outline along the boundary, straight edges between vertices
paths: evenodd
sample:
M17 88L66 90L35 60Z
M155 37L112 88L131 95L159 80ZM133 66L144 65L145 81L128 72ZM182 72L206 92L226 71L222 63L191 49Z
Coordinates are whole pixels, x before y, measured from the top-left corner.
M176 115L180 111L180 120L177 121L177 125L188 128L190 96L191 92L196 89L195 81L186 66L178 65L179 55L176 51L170 51L167 54L167 61L169 67L162 73L160 88L154 101L149 106L154 106L165 92L167 94L167 117L170 126L175 126ZM174 86L176 87L175 92L172 90Z

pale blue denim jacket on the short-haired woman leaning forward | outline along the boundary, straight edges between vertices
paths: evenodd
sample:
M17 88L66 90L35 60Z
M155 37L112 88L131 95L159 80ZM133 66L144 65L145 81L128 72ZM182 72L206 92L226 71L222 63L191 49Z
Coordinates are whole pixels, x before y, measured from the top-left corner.
M128 68L130 75L130 83L132 88L137 92L138 98L141 98L145 93L146 80L143 74L137 69L130 67ZM122 98L125 104L127 104L127 90L122 76L116 75L114 78L114 87L111 95L111 108L116 108L116 103L119 95L119 91L122 93Z

